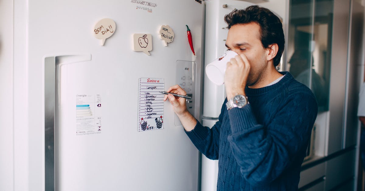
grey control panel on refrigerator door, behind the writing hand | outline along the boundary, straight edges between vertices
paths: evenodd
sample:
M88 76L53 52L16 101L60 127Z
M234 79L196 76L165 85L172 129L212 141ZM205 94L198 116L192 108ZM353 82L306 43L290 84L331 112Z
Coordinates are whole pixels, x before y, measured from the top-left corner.
M186 99L188 111L195 116L195 87L196 87L196 63L193 61L176 61L176 84L186 91L191 100ZM180 120L175 116L175 126L181 126Z

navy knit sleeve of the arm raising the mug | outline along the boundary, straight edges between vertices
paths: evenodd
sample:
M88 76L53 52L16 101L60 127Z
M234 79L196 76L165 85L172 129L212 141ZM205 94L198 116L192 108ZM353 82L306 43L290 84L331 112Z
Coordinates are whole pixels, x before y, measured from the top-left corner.
M232 131L228 141L242 176L253 186L272 182L299 156L304 157L318 112L317 102L307 92L285 100L266 126L257 123L250 104L228 111Z

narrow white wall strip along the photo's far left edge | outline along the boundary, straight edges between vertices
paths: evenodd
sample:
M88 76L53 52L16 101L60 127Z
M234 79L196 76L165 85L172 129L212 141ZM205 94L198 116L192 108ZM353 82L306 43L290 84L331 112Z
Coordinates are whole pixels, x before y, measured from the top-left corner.
M14 190L13 1L0 0L0 190Z

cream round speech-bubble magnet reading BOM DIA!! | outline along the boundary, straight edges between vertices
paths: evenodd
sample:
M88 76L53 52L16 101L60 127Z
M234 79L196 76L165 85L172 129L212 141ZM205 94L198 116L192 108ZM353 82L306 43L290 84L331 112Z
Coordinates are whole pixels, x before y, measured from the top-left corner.
M104 46L105 39L111 37L116 29L113 19L101 19L94 26L94 36L101 40L101 46Z

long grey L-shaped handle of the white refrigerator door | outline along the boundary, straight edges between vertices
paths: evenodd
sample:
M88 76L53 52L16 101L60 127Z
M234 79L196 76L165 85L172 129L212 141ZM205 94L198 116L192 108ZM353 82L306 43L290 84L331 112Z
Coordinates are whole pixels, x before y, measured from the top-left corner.
M91 61L91 54L60 55L44 57L44 99L45 99L45 190L55 190L54 130L58 119L59 67Z

